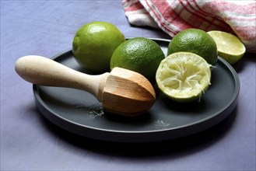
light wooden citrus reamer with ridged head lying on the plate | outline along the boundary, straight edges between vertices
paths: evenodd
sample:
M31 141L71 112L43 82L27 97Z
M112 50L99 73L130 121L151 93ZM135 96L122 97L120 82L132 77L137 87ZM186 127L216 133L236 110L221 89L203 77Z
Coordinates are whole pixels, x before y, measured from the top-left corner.
M15 69L20 77L36 85L86 90L110 113L138 116L156 99L153 86L143 75L124 68L86 75L51 59L30 55L19 58Z

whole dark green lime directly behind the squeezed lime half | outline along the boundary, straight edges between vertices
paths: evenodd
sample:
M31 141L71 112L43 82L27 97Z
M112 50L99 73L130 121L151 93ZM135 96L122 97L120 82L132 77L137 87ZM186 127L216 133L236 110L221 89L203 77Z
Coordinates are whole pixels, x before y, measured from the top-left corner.
M199 29L183 30L174 36L168 46L167 54L180 51L198 54L210 65L215 65L218 59L216 42L208 33Z

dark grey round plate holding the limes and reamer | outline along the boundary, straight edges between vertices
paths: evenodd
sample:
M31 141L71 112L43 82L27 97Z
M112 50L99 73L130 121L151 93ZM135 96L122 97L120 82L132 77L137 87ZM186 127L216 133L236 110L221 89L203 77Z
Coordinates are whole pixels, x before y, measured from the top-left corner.
M170 40L153 40L167 54ZM73 59L71 49L53 60L86 72ZM156 89L156 103L149 112L132 118L105 113L101 103L82 90L33 85L33 93L40 112L67 131L104 141L149 142L195 134L225 119L237 105L240 91L237 73L219 58L212 69L211 82L201 103L174 103Z

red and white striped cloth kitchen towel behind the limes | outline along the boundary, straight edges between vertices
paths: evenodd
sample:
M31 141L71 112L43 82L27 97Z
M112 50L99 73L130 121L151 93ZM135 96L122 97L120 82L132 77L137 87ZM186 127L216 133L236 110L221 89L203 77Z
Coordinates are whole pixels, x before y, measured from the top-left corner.
M160 28L174 37L198 28L234 33L256 52L256 2L216 0L123 0L125 15L135 26Z

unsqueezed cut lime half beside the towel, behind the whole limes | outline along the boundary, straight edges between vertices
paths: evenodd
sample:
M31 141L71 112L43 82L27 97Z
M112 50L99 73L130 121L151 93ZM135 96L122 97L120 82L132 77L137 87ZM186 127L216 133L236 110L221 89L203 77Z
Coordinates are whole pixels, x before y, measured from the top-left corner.
M216 41L219 57L233 65L244 56L246 51L240 39L231 33L209 31L209 35Z

